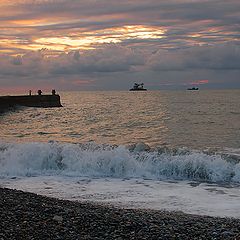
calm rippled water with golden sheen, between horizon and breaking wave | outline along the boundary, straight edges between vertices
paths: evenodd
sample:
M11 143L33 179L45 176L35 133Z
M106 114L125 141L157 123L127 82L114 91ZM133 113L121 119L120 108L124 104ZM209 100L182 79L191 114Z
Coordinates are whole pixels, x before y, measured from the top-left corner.
M7 141L240 147L240 91L64 92L63 108L0 116Z

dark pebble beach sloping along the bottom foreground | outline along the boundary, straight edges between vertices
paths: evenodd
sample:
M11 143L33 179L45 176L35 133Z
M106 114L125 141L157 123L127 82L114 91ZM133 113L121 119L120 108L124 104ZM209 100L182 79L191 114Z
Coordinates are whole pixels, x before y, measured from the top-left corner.
M240 219L119 209L0 188L0 239L240 239Z

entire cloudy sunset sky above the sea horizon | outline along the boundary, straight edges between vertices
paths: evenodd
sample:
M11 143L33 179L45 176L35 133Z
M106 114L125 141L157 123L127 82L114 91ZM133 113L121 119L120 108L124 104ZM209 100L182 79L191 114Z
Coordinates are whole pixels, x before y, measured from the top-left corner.
M1 0L0 93L240 88L239 0Z

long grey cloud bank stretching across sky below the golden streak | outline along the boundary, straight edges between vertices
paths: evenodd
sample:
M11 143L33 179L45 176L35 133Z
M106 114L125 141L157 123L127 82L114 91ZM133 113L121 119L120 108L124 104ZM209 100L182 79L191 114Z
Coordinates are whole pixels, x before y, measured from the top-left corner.
M28 76L32 79L36 76L192 70L239 71L240 45L229 43L175 50L161 49L151 53L107 44L102 49L72 51L58 57L51 57L47 50L42 50L23 56L2 56L0 60L1 75L16 78Z

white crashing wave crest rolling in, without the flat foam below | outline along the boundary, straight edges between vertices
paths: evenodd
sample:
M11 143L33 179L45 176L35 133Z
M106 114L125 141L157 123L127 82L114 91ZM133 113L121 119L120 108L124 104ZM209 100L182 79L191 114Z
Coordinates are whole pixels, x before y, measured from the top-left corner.
M0 143L0 176L66 175L240 183L239 155L146 144Z

